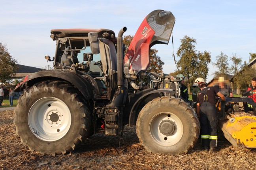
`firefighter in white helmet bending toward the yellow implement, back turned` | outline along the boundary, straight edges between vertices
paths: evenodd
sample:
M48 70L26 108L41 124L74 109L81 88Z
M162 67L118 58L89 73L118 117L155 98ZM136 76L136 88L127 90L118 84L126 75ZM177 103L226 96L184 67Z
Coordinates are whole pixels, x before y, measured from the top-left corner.
M215 108L215 95L226 101L225 96L215 87L207 87L203 81L199 82L201 91L197 96L196 114L200 120L200 134L204 150L215 151L218 139L218 117Z

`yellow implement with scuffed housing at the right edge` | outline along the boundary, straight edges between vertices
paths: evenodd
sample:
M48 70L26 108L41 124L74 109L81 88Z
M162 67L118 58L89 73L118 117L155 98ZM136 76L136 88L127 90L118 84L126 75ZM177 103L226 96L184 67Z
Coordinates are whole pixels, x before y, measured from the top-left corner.
M219 121L226 139L237 148L256 148L256 116L247 113L230 114Z

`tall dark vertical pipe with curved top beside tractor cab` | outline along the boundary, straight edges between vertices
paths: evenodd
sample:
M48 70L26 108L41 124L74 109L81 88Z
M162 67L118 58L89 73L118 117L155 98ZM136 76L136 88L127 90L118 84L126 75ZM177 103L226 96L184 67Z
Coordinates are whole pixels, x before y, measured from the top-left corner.
M127 30L126 27L122 28L117 37L117 85L122 86L123 83L123 39L122 35Z

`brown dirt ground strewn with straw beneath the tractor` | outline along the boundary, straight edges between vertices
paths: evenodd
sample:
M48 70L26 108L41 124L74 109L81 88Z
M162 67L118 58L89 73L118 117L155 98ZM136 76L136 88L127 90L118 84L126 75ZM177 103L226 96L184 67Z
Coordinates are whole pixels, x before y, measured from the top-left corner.
M1 170L248 170L256 166L256 149L237 150L221 135L214 153L202 151L199 140L184 155L152 154L139 144L136 127L127 126L123 139L98 133L66 155L41 155L21 144L13 117L13 110L0 111Z

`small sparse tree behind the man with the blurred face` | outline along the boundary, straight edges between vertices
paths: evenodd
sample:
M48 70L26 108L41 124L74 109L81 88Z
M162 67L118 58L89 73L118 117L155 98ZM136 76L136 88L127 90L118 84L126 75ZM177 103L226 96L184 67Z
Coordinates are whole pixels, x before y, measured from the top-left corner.
M220 52L220 55L216 56L216 63L213 63L217 67L217 71L213 74L216 76L218 74L224 73L229 74L229 65L228 65L228 55Z

